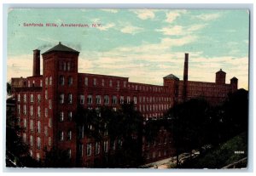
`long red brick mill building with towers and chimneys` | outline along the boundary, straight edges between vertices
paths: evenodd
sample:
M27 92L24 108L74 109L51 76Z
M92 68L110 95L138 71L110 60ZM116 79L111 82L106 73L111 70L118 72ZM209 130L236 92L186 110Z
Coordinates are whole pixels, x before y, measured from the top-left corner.
M212 105L223 101L237 89L237 79L225 83L226 73L216 73L215 82L188 81L189 54L185 54L183 81L170 74L163 77L163 86L129 82L128 77L79 73L79 52L59 43L42 54L43 74L40 74L40 50L33 51L32 77L12 78L16 99L16 116L23 140L30 146L30 155L44 158L44 149L53 146L67 150L73 163L80 155L82 166L93 166L102 153L113 152L122 141L110 145L108 137L103 146L89 139L83 130L77 132L73 117L78 105L97 109L107 105L116 110L124 102L134 102L145 120L162 116L173 105L188 99L203 97ZM84 127L79 127L84 128ZM77 135L80 145L77 146ZM108 135L108 133L106 134ZM160 133L157 145L149 145L143 138L143 156L154 162L174 155L172 135Z

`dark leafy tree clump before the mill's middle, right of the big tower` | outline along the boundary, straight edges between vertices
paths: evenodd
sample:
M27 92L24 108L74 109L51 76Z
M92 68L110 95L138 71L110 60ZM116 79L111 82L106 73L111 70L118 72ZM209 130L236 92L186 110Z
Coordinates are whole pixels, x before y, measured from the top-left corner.
M118 111L106 106L97 110L79 107L78 110L78 133L84 129L88 138L99 141L101 145L103 137L108 134L110 148L112 141L120 141L113 155L108 152L103 157L102 167L137 167L142 163L143 117L134 110L133 103L121 105ZM97 167L100 167L98 163Z

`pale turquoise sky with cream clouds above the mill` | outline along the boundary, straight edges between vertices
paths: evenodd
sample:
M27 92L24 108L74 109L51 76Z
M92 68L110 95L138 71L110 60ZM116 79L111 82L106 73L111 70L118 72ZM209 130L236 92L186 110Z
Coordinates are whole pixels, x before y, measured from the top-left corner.
M79 72L162 85L171 73L183 80L189 53L189 81L215 82L222 69L247 89L248 39L247 9L9 9L7 80L32 76L32 50L61 42L80 52Z

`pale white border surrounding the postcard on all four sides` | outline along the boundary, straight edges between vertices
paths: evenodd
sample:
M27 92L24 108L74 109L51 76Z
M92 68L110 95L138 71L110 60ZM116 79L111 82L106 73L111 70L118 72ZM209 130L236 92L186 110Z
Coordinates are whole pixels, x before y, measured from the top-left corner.
M23 1L24 2L24 1ZM1 99L1 105L0 106L0 111L2 111L3 114L3 118L2 121L0 121L0 125L1 127L5 127L5 93L6 93L6 58L7 58L7 10L8 8L116 8L116 9L143 9L143 8L152 8L152 9L250 9L251 10L251 36L250 36L250 69L249 69L249 151L248 153L249 155L249 160L248 160L248 170L195 170L195 169L186 169L186 170L145 170L145 169L86 169L84 170L84 168L80 169L80 168L75 168L75 169L9 169L6 168L4 159L5 159L5 144L3 143L5 141L5 128L3 128L3 131L1 133L0 136L0 144L3 144L3 148L1 147L0 150L0 155L2 156L3 160L0 162L0 165L2 166L1 170L2 172L15 172L15 173L20 173L22 172L22 174L30 174L33 172L47 172L47 173L56 173L56 172L64 172L66 174L70 174L70 173L79 173L79 172L88 172L88 173L101 173L101 174L105 174L107 172L107 175L113 175L114 174L119 174L119 173L124 173L125 174L130 174L130 173L138 173L138 174L154 174L154 173L164 173L164 174L178 174L178 175L183 175L183 173L194 173L194 175L198 175L199 173L203 174L206 173L207 174L211 174L211 173L231 173L236 174L236 173L242 173L243 175L246 173L248 174L253 174L255 171L255 169L253 169L253 156L255 156L254 152L253 152L253 146L255 146L255 141L253 141L253 126L255 127L255 121L253 122L253 99L254 99L254 87L253 87L253 82L254 77L253 77L253 73L254 73L254 63L253 63L253 50L255 50L255 47L253 46L253 20L255 18L253 18L254 14L253 14L253 1L251 0L243 0L243 1L233 1L230 4L227 3L226 0L223 1L217 1L218 4L209 2L209 3L205 3L203 1L193 1L194 3L191 3L191 1L189 0L184 0L183 2L179 2L177 0L173 0L172 3L168 3L166 1L153 1L153 0L148 0L147 4L145 4L145 1L143 0L124 0L121 3L117 2L117 1L112 1L106 3L106 1L104 0L95 0L92 1L93 3L86 3L84 4L83 1L81 0L73 0L72 4L71 3L65 3L60 4L60 3L55 3L53 1L50 0L44 0L44 2L35 2L34 0L27 0L26 3L31 3L31 4L25 4L25 3L20 3L19 0L3 0L3 3L14 3L14 4L3 4L3 6L1 6L1 11L3 13L3 18L1 18L1 24L3 26L3 32L1 32L2 37L3 37L3 43L1 43L1 51L3 53L3 72L1 71L1 80L0 82L3 82L3 86L1 87L1 93L3 95L3 98ZM208 1L207 1L208 2ZM48 3L48 4L45 4ZM112 3L112 4L111 4ZM125 3L125 4L122 4ZM133 3L133 4L131 4ZM160 3L164 3L164 4L160 4ZM176 3L176 4L175 4ZM177 4L178 3L178 4ZM205 4L202 4L205 3ZM243 4L241 4L243 3ZM252 4L244 4L244 3L252 3ZM3 44L3 45L2 45ZM3 88L3 89L2 89ZM3 102L2 102L3 101ZM3 122L3 124L2 124ZM254 125L253 125L254 124ZM253 143L253 144L252 144ZM28 172L28 173L25 173ZM211 173L208 173L211 172ZM43 173L43 174L44 174ZM86 173L86 174L88 174ZM3 173L3 174L7 174L7 173Z

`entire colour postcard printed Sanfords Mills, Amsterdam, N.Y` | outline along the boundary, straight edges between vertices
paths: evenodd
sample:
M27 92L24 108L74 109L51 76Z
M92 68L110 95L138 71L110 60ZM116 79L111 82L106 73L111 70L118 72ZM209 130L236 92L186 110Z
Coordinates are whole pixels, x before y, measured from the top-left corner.
M9 9L6 167L247 168L248 9Z

